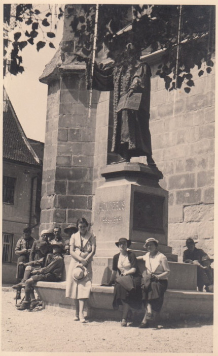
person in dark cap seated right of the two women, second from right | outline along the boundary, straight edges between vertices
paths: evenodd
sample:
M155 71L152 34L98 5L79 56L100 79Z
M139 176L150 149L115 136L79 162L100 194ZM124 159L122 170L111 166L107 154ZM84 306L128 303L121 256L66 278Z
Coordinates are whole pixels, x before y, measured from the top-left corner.
M193 239L189 238L186 240L186 246L188 249L183 253L183 262L185 263L193 263L197 265L197 287L200 292L203 291L203 280L201 275L201 270L204 270L205 267L201 264L201 259L206 253L195 247L197 242L194 242Z

